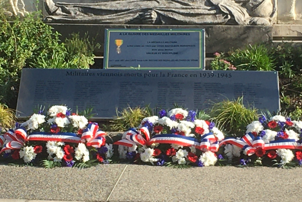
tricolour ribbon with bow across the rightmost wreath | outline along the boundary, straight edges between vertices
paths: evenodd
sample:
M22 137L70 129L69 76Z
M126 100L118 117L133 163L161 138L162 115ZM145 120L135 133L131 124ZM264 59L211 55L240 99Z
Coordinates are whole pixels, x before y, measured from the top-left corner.
M223 144L233 144L242 148L248 156L255 154L258 147L262 147L264 150L270 149L302 149L300 143L293 139L276 140L264 143L262 137L254 136L252 133L246 134L241 139L234 137L227 137L220 142L220 146Z

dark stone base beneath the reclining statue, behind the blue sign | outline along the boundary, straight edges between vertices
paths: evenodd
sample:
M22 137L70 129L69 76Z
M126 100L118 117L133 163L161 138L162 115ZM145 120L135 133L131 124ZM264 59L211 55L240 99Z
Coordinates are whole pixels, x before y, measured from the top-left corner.
M114 29L205 29L206 53L227 52L231 48L243 48L246 44L272 41L272 26L230 26L230 25L102 25L102 24L48 24L62 34L61 40L68 38L72 32L83 36L88 32L89 38L95 38L101 48L95 54L103 55L104 30Z

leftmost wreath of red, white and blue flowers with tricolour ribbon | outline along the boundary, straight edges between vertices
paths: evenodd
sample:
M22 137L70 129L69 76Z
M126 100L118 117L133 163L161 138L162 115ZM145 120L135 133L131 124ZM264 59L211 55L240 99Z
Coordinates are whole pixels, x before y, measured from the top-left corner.
M0 159L49 168L90 167L106 163L112 156L112 144L106 144L105 136L97 123L55 105L1 135Z

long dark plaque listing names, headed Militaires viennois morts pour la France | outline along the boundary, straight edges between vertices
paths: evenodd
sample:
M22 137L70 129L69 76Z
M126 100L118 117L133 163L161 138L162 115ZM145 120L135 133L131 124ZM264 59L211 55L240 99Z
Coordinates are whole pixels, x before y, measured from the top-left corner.
M113 118L116 108L146 106L208 109L211 102L244 96L256 108L280 108L276 71L23 69L17 117L37 105L93 107L94 118Z

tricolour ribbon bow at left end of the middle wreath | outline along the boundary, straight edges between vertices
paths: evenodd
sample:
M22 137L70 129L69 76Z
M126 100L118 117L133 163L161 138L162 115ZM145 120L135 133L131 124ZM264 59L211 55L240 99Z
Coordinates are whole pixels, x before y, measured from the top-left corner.
M143 135L145 137L143 137ZM126 147L132 147L135 144L149 145L150 144L150 132L147 126L141 127L138 131L131 128L126 132L124 139L115 142L114 144L123 145ZM151 143L152 144L152 143Z

